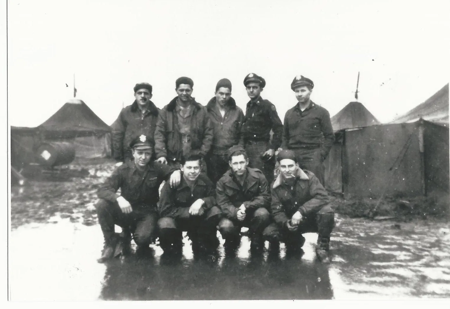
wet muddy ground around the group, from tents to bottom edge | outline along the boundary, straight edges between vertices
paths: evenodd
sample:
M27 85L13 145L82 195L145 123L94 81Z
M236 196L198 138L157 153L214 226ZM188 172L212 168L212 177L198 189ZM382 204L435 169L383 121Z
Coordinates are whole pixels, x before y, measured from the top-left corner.
M449 223L445 216L414 212L422 206L411 207L412 201L401 206L405 203L392 200L391 207L386 202L381 208L378 203L377 211L370 212L374 209L370 200L357 207L364 201L333 197L338 214L329 265L315 259L316 234L306 234L304 252L295 256L287 254L283 244L277 256L268 248L262 256L251 256L243 236L235 259L225 256L222 245L216 260L196 259L184 238L180 259L165 256L156 243L147 258L133 254L98 264L103 237L94 210L95 191L114 166L112 161L98 160L70 168L76 174L81 166L89 177L12 188L12 300L450 297ZM369 215L378 219L383 215L385 220Z

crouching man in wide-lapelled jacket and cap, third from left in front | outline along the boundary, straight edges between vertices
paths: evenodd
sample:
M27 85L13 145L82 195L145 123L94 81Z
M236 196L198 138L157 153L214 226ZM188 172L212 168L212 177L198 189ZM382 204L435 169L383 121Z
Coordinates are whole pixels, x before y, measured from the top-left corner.
M269 224L270 193L264 174L257 168L248 168L247 153L236 145L228 152L231 167L217 182L216 202L225 218L219 230L225 239L225 251L234 254L240 241L241 227L248 227L251 250L263 249L261 232Z

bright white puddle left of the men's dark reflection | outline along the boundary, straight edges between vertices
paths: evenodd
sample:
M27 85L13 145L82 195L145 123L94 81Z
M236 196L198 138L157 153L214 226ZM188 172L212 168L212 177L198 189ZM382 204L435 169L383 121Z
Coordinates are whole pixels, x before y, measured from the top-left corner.
M28 224L9 238L11 300L97 300L106 267L98 226Z

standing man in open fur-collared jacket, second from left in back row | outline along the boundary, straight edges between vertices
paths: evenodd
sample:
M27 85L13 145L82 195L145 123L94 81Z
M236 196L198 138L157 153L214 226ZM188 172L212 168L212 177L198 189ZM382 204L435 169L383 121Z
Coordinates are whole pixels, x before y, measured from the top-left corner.
M160 163L180 166L181 158L191 154L204 158L211 149L213 128L207 110L191 96L193 81L180 77L175 81L177 96L160 111L155 130L155 152Z

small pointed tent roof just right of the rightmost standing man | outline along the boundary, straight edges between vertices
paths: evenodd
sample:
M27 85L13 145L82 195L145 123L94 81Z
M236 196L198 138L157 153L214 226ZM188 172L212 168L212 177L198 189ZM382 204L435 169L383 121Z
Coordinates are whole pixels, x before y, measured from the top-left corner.
M350 102L331 118L333 131L352 127L368 127L380 124L377 118L360 102Z

